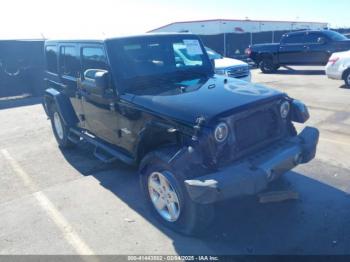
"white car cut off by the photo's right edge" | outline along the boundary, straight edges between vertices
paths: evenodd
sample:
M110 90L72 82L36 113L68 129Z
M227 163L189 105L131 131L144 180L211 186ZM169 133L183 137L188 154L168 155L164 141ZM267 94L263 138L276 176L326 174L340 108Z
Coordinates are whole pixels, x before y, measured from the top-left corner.
M326 66L326 74L331 79L344 80L350 88L350 51L334 53Z

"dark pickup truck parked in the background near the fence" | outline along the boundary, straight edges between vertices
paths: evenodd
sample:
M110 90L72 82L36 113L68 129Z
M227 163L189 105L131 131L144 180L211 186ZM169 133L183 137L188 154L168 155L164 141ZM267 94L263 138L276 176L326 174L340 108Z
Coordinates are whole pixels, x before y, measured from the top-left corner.
M263 73L273 73L282 65L326 65L332 53L350 50L350 39L330 31L299 31L282 36L281 43L257 44L247 55Z

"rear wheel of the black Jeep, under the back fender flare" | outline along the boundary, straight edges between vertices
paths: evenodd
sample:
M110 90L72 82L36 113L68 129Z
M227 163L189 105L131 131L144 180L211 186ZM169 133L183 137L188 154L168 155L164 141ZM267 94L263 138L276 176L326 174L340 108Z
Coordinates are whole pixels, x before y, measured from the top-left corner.
M52 131L55 135L57 143L61 148L71 148L75 144L68 139L69 127L65 125L56 105L52 105L50 109L50 120Z

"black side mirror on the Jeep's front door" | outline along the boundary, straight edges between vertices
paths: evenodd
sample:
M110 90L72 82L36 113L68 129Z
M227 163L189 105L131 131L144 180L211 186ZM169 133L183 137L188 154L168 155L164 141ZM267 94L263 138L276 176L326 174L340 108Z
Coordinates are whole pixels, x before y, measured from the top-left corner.
M87 81L94 82L92 93L104 95L110 87L110 77L107 70L88 69L84 72L84 78Z

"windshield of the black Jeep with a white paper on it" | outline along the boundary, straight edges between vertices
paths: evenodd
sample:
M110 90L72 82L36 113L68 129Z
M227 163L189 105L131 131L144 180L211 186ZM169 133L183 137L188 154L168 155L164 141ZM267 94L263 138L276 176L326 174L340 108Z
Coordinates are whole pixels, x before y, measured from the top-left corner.
M209 75L213 69L195 36L144 36L107 41L113 75L123 84L177 76Z

